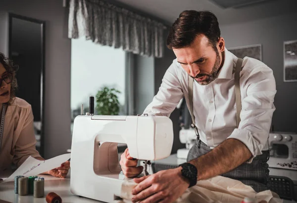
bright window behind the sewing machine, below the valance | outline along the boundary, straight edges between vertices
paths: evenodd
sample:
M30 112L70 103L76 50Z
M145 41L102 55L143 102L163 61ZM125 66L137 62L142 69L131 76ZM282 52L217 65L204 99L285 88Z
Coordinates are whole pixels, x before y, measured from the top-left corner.
M89 97L95 97L102 86L118 89L120 115L128 114L129 70L127 56L121 48L102 46L84 38L71 40L71 118L89 112ZM129 58L128 58L129 59ZM132 81L131 81L132 82ZM131 94L132 95L132 94ZM96 110L95 110L96 114ZM72 131L71 124L71 131Z

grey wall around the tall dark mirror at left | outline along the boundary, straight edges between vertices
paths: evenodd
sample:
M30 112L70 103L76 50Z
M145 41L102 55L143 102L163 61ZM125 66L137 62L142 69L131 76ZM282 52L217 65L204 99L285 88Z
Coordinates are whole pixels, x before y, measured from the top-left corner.
M70 57L62 0L0 0L0 52L8 55L8 12L46 21L45 158L66 153L70 137Z

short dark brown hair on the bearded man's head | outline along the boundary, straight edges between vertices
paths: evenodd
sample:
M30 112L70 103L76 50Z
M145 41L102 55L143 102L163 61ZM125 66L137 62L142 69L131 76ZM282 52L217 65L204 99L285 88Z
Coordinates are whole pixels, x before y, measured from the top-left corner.
M170 28L167 47L179 49L191 45L196 36L203 34L215 51L221 36L216 16L210 11L185 10Z

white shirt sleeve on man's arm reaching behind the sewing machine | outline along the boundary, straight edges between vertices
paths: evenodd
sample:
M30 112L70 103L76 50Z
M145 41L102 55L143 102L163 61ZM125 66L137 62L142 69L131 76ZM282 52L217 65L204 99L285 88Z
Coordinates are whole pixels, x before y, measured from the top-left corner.
M184 93L176 68L176 65L172 63L167 69L158 93L153 97L144 114L169 117L183 98Z

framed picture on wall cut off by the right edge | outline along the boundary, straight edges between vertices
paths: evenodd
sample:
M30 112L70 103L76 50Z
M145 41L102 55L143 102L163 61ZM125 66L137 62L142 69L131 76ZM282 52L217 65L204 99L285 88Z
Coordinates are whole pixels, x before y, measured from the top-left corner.
M284 41L284 81L297 81L297 40Z

